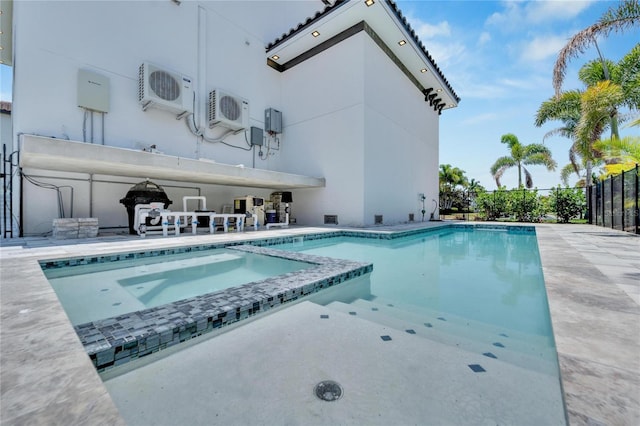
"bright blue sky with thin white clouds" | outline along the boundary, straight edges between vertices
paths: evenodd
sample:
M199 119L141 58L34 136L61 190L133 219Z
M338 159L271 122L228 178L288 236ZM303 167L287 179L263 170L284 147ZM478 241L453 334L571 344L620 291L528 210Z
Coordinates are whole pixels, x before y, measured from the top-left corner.
M557 54L576 32L595 23L617 1L408 0L396 2L461 101L440 116L440 164L464 170L487 189L496 184L489 172L508 147L502 135L515 134L523 144L543 143L558 163L556 172L528 166L536 187L560 184L571 142L544 136L559 122L535 127L536 111L553 96L552 72ZM619 61L640 42L640 30L599 38L604 57ZM563 89L584 89L580 67L596 59L591 49L573 59ZM11 99L11 69L0 65L0 99ZM640 129L622 128L621 135ZM577 178L573 178L573 184ZM501 183L517 187L516 169Z

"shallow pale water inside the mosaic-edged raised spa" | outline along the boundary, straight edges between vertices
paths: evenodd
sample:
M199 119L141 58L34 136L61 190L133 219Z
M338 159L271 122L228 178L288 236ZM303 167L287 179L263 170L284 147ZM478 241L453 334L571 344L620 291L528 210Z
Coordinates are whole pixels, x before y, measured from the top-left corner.
M228 249L45 269L72 324L213 293L312 265Z

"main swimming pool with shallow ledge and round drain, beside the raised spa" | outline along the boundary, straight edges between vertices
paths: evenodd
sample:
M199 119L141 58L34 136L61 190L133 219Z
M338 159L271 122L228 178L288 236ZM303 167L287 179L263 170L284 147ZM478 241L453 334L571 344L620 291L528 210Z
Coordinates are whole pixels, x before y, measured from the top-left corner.
M244 410L236 408L249 394L260 419L566 424L533 228L339 231L253 244L262 247L243 249L347 257L372 263L373 271L127 373L102 373L126 419L153 416L155 406L140 396L138 383L148 384L164 407L175 400L175 383L202 380L185 395L188 409L171 407L154 418L184 423L200 404L204 423L218 415L237 423ZM221 378L224 389L206 385ZM316 379L337 380L344 397L318 405L311 396Z

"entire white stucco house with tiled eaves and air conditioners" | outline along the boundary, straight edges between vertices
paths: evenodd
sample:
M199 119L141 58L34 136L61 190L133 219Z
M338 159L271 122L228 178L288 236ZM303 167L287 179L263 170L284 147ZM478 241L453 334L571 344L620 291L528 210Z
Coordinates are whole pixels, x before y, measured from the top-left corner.
M428 220L439 116L460 99L393 2L12 9L14 236L60 216L125 228L144 179L175 208L291 191L301 225L419 221L424 194Z

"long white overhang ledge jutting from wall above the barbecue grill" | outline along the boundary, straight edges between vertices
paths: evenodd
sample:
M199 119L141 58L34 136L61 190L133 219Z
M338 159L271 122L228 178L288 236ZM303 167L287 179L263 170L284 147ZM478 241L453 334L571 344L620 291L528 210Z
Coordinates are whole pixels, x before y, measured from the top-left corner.
M251 188L321 188L325 179L34 135L21 135L20 166Z

